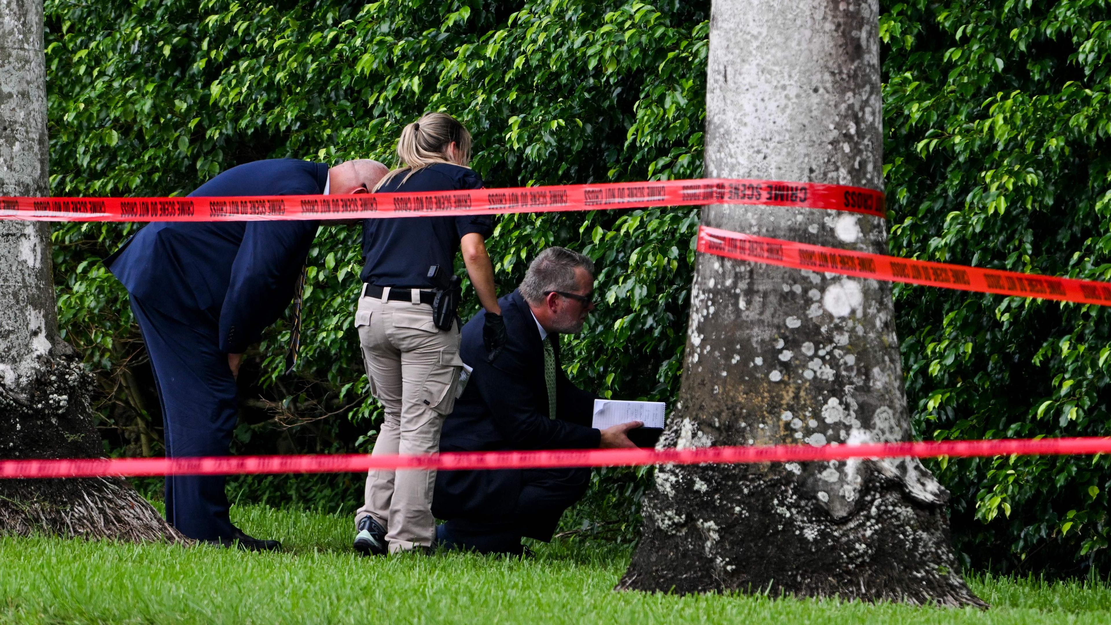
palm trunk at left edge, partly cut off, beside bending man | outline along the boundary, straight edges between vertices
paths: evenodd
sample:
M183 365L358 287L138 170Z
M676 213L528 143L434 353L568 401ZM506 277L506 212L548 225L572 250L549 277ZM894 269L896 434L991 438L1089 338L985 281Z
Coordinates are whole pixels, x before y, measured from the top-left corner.
M42 0L0 0L0 196L49 194ZM92 378L58 335L50 227L0 220L0 458L102 455ZM0 480L0 534L171 539L123 479Z

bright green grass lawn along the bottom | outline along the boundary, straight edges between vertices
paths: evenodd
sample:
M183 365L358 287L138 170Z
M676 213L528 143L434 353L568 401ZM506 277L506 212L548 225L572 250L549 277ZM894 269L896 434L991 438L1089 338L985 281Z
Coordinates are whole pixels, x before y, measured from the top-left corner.
M286 550L0 538L0 622L11 623L1111 623L1111 587L970 579L989 611L762 596L611 591L624 548L557 543L534 559L361 558L347 517L237 507Z

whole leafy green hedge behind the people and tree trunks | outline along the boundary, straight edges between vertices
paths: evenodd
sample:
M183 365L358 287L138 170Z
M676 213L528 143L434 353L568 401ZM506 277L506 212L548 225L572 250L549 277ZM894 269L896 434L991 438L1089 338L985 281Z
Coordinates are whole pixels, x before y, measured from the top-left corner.
M892 252L1108 278L1107 3L888 0L883 11ZM57 195L186 194L268 157L392 163L401 126L426 110L471 128L489 186L701 175L704 1L48 0L47 12ZM670 400L697 220L687 208L501 218L490 241L499 287L552 244L598 259L605 302L564 339L570 375L604 395ZM97 261L132 229L56 229L59 306L102 383L109 450L158 454L126 294ZM358 239L358 228L321 229L300 370L277 376L280 321L250 355L244 395L256 399L238 450L367 449L380 415L351 328ZM1102 309L921 287L897 297L920 436L1107 434ZM970 563L1068 573L1104 557L1107 458L934 469ZM643 470L595 472L565 527L633 537L645 484ZM246 499L330 509L350 509L361 489L358 476L236 485Z

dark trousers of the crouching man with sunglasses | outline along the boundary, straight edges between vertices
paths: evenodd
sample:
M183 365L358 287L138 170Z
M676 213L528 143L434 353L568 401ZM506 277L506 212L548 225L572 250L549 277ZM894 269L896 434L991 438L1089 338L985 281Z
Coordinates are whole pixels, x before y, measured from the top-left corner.
M451 518L437 527L437 544L480 554L520 555L521 537L551 540L563 510L581 499L589 486L589 468L524 469L512 516Z

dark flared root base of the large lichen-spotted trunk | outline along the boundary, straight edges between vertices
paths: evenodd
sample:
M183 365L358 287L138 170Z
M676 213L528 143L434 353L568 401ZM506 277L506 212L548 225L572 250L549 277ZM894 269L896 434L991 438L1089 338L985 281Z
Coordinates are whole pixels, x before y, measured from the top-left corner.
M833 519L792 478L661 467L643 537L615 589L988 607L961 577L944 506L918 505L898 480L873 473L855 514Z

